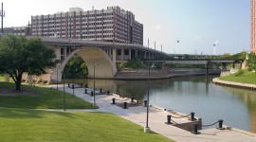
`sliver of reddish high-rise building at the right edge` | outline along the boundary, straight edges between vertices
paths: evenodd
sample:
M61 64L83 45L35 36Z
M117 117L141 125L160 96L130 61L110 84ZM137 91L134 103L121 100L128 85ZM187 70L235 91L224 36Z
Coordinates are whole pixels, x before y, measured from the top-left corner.
M250 51L256 53L256 0L250 0Z

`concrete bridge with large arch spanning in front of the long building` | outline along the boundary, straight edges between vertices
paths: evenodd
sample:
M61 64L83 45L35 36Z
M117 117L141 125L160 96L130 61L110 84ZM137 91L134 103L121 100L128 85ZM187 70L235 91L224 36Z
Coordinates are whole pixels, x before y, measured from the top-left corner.
M33 38L31 36L27 38ZM116 62L126 62L137 57L144 60L156 60L168 54L139 44L109 43L100 41L39 37L44 44L51 46L57 60L56 68L50 70L50 80L62 80L62 71L66 62L78 54L88 67L88 77L112 79L117 73Z

